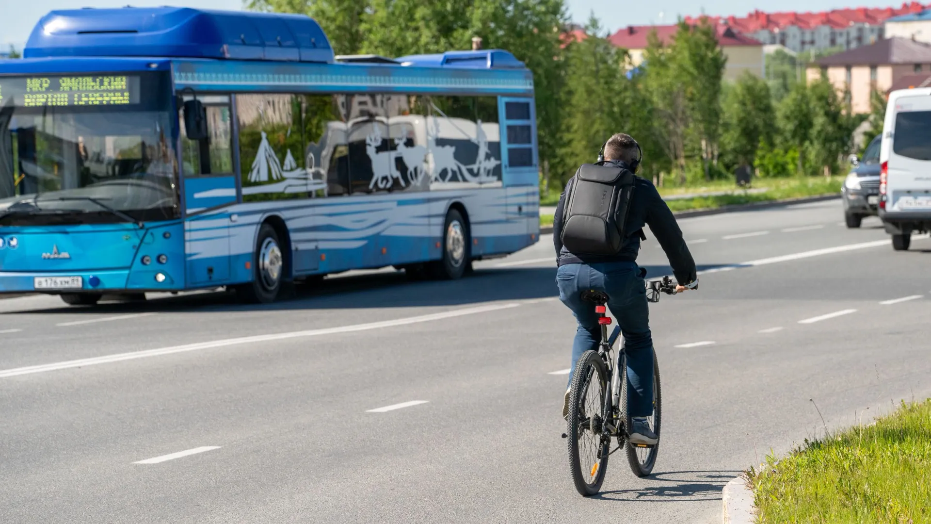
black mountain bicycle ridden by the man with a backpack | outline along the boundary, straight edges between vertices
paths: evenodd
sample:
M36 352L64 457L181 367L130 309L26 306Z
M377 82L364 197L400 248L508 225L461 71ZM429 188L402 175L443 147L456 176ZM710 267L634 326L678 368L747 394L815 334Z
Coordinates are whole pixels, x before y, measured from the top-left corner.
M660 293L676 293L676 283L669 277L663 277L660 281L648 282L646 291L647 301L659 302ZM600 291L584 291L582 298L595 303L595 312L599 316L598 324L601 326L601 340L597 352L589 350L582 353L575 364L569 393L569 413L566 417L567 430L562 434L562 438L567 438L569 442L569 464L575 489L582 496L591 496L599 492L607 470L608 457L614 451L627 448L627 462L634 475L648 476L656 462L659 442L657 440L655 445L630 443L627 431L630 428L630 417L627 414L627 354L624 352L624 338L620 337L621 326L615 325L614 331L608 335L611 318L606 315L607 294ZM621 338L621 348L615 357L614 343L617 338ZM619 369L624 370L622 377L619 377ZM647 421L658 438L662 394L656 352L653 354L653 379L654 410L653 416ZM589 388L592 391L589 391ZM612 437L617 439L617 448L609 451Z

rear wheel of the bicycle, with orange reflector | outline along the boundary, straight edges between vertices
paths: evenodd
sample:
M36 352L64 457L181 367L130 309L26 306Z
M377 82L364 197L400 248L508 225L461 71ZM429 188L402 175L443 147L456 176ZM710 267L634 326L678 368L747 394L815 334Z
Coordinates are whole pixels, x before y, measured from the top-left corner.
M608 466L611 439L602 438L601 434L607 420L604 413L607 390L607 372L601 356L598 352L583 353L575 364L570 386L566 435L575 490L585 497L601 489Z

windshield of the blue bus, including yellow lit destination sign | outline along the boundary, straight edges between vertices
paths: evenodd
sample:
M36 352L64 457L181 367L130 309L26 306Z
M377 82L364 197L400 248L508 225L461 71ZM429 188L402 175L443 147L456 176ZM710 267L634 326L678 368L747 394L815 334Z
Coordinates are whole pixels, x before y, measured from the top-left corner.
M0 225L177 217L170 115L160 73L0 77Z

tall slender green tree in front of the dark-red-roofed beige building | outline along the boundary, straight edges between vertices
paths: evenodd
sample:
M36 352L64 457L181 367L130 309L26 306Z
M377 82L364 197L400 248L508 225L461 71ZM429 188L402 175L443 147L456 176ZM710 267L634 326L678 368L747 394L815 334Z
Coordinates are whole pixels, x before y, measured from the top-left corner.
M716 158L721 131L721 86L727 58L708 19L702 19L698 25L680 21L672 53L695 124L693 131L701 148L702 169L709 180L709 162Z

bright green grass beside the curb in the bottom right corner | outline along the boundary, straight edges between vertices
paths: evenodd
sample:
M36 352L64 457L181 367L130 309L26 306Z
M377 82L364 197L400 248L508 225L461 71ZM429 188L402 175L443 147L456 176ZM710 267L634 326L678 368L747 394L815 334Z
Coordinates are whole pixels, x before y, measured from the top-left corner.
M931 522L931 399L750 471L758 522Z

